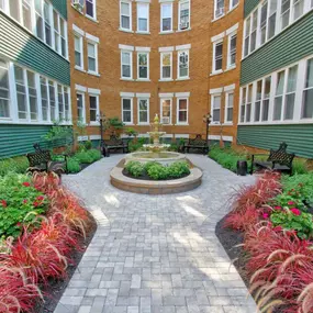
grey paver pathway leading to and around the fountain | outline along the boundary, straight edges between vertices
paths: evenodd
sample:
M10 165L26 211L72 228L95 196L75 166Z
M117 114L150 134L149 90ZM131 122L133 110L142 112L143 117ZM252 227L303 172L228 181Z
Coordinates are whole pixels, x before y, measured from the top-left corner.
M123 192L109 181L111 156L64 182L98 231L55 313L254 313L256 305L214 234L237 177L205 156L198 189L172 195Z

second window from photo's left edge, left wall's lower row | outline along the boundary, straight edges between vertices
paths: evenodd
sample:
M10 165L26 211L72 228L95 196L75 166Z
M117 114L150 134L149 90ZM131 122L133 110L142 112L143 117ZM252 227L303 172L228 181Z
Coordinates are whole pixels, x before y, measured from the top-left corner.
M14 65L15 86L16 86L16 98L18 98L18 112L20 120L27 119L27 100L26 100L26 86L24 78L24 70Z

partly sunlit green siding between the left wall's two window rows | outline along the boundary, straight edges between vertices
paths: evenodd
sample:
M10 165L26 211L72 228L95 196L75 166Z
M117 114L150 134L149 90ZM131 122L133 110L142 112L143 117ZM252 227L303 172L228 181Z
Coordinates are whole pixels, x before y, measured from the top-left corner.
M0 55L64 85L70 85L69 63L1 11Z

